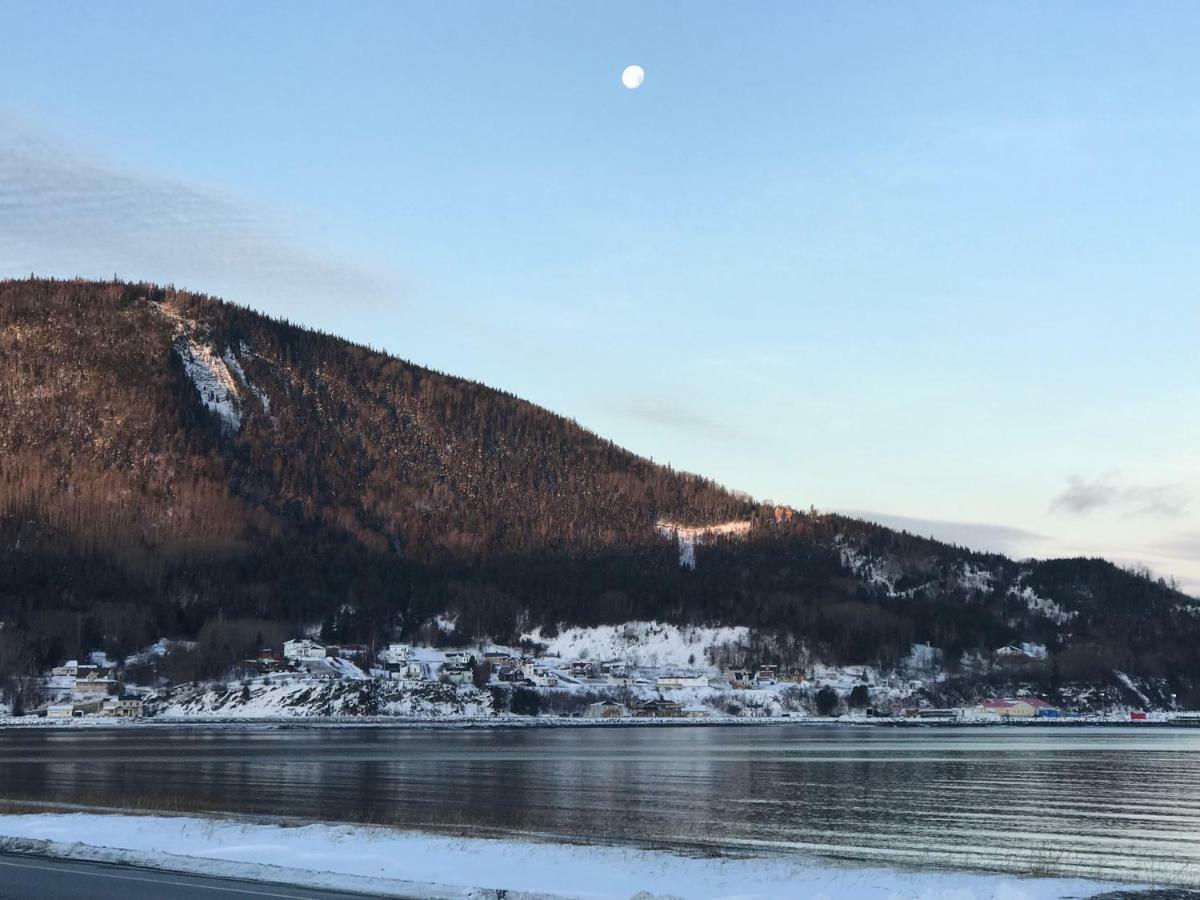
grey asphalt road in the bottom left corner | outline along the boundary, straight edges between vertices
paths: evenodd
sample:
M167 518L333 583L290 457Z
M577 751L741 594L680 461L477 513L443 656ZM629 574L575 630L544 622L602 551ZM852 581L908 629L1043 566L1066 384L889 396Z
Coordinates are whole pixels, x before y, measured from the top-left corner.
M362 900L364 894L313 890L235 878L175 875L107 863L84 863L0 853L0 900Z

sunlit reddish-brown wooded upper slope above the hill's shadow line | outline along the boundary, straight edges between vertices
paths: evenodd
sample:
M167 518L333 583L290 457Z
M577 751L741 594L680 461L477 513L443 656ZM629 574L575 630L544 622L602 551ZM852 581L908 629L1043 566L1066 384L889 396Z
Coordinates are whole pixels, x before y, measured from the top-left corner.
M205 409L179 340L240 365L241 427ZM0 508L34 503L88 548L236 553L320 523L412 559L487 558L751 509L532 403L196 294L8 282L0 353Z

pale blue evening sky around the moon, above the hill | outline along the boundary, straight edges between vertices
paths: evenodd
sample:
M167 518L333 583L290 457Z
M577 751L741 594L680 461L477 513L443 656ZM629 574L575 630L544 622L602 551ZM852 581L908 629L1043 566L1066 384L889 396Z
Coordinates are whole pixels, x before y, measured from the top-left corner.
M761 499L1200 594L1194 4L2 19L0 277L216 294Z

